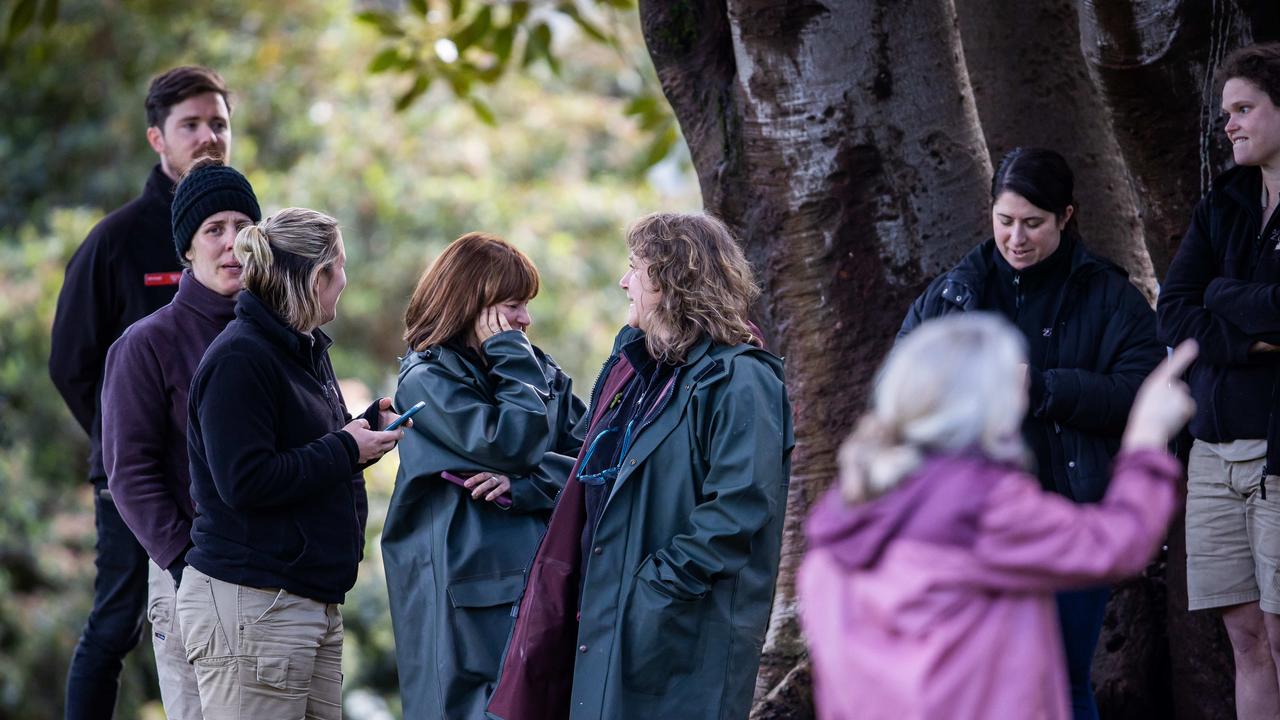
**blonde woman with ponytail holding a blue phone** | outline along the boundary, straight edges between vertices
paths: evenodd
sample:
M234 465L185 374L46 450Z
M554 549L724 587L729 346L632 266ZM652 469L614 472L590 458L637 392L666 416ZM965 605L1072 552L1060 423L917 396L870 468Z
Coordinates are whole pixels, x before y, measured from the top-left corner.
M347 284L333 218L288 208L239 231L236 319L191 382L195 520L178 614L205 720L342 717L342 614L367 515L361 471L403 430L352 419L329 363Z

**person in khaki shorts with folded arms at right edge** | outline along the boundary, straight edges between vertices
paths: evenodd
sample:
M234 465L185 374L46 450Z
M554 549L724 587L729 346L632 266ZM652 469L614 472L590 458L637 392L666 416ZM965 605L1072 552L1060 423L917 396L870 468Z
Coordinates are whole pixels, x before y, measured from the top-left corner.
M1236 167L1213 179L1169 268L1161 341L1199 341L1188 462L1187 594L1217 609L1242 719L1280 717L1280 44L1219 69Z

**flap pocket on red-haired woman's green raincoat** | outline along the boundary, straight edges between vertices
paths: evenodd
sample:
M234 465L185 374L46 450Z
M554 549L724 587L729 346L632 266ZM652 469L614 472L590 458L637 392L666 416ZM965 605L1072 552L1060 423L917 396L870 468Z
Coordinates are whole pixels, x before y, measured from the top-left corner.
M449 585L452 644L460 674L484 680L498 676L502 650L515 621L511 609L524 589L524 571L467 578Z

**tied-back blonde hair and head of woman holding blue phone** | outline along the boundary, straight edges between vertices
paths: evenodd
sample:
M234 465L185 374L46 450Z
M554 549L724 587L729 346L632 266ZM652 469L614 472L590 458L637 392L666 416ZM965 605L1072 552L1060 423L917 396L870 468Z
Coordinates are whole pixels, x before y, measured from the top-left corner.
M316 281L338 261L340 240L338 220L306 208L285 208L241 229L232 251L243 268L244 290L291 328L308 333L324 316Z

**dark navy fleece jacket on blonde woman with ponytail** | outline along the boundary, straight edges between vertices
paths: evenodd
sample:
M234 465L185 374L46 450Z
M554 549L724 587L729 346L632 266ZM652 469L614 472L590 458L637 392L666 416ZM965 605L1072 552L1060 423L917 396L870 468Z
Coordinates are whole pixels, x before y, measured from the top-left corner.
M329 345L246 290L196 368L187 562L201 573L319 602L356 583L367 498Z

